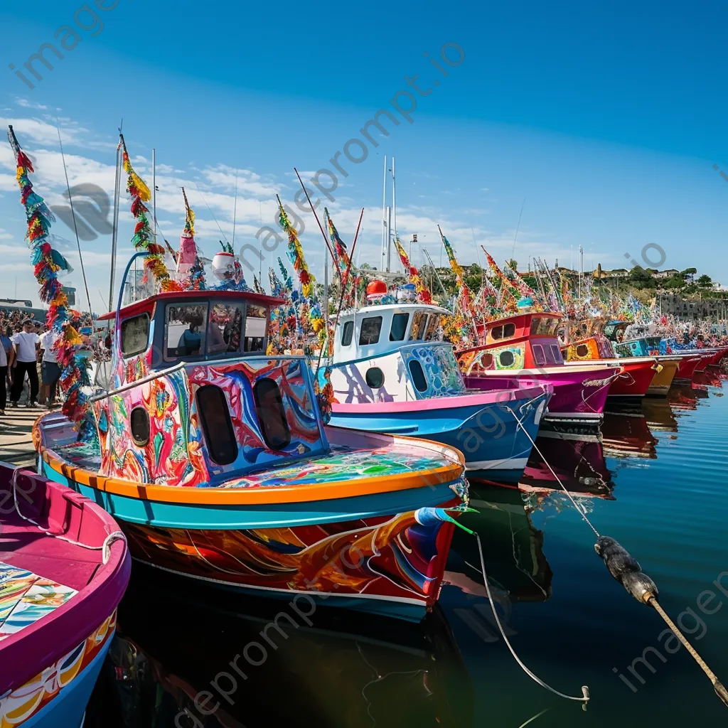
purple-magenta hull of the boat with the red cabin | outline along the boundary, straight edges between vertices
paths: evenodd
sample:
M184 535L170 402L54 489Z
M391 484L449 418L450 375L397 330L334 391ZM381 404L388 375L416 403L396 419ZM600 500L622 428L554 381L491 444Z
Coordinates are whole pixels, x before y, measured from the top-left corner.
M561 365L523 373L478 373L465 376L468 387L481 390L509 387L533 387L550 384L553 396L548 403L545 419L550 421L590 422L598 424L604 413L606 397L617 367L580 366L579 369Z

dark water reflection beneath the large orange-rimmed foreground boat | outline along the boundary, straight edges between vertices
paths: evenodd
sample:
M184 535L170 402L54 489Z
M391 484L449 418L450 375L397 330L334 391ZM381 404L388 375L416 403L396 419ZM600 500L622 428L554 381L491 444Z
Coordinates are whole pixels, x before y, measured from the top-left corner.
M137 567L86 728L472 722L470 679L440 609L414 624L311 612L299 598L299 616L290 603L190 590Z

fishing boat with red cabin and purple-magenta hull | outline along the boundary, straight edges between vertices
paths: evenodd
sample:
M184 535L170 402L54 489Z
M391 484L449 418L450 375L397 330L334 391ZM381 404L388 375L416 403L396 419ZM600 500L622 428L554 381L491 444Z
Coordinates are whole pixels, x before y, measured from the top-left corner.
M483 343L457 353L467 386L493 391L550 384L546 419L598 424L622 366L565 366L557 337L562 318L554 312L523 312L479 325Z

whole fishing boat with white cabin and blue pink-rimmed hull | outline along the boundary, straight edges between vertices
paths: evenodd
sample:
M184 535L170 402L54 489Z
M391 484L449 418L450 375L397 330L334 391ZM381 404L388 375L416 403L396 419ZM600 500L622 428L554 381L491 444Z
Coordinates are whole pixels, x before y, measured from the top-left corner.
M517 478L552 387L467 389L452 344L439 341L447 315L405 302L342 312L331 362L331 424L429 438L461 450L470 477Z

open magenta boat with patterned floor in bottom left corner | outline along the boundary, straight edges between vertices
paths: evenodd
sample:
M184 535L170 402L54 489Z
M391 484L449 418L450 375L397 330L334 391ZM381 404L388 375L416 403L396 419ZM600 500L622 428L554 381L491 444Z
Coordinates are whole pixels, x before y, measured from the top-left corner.
M108 513L0 462L0 726L79 728L130 556Z

